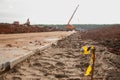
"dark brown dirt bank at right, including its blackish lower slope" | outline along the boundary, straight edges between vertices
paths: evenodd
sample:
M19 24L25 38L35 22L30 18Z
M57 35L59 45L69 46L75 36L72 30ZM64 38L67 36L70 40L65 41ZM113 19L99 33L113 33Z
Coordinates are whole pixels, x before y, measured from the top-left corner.
M120 55L120 25L79 33L83 40L91 39L108 47L109 51Z

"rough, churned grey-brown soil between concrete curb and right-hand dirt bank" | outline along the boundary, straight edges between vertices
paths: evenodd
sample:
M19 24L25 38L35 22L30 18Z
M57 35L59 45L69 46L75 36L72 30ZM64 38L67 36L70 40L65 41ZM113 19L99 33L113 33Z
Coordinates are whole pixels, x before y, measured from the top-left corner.
M94 80L120 80L120 56L92 40L81 40L79 32L39 51L1 76L3 80L91 80L84 73L91 55L80 54L83 45L96 47Z

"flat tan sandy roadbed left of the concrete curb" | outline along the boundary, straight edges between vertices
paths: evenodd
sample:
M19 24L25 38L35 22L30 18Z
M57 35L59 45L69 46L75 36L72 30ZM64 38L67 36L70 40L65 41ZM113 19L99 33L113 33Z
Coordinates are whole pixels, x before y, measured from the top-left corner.
M72 32L40 32L21 34L0 34L0 64L24 56L30 51L70 35Z

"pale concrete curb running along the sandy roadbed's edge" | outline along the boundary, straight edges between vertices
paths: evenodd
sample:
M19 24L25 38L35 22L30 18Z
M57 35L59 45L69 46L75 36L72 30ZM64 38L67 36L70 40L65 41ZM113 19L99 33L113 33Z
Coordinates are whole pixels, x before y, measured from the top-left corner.
M75 32L73 32L73 33L75 33ZM73 33L71 33L71 34L73 34ZM70 36L71 34L69 34L68 36ZM68 37L68 36L66 36L66 37ZM59 39L59 40L61 40L61 39ZM40 51L41 50L45 50L46 48L52 46L52 44L57 44L57 41L54 41L54 42L52 42L50 44L46 44L45 46L40 47L39 50ZM16 58L14 58L14 59L12 59L10 61L3 62L2 64L0 64L0 73L12 69L18 63L20 63L20 62L24 61L25 59L29 58L30 56L34 55L35 54L35 50L34 51L30 51L28 53L25 53L24 55L16 57Z

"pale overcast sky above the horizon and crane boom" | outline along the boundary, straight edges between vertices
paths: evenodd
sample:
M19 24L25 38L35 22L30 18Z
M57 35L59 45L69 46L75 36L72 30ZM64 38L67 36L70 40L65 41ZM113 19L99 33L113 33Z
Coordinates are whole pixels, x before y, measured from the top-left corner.
M119 0L0 0L0 23L119 24Z

